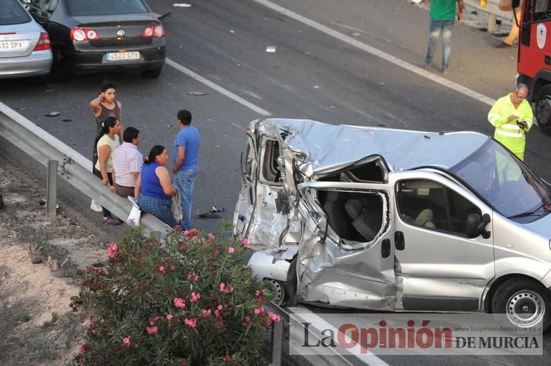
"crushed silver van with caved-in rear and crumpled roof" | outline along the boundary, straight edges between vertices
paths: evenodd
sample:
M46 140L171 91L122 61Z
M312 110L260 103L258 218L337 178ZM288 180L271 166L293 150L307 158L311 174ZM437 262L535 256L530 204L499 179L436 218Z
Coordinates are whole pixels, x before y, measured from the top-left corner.
M251 122L234 234L276 302L550 325L549 184L494 139Z

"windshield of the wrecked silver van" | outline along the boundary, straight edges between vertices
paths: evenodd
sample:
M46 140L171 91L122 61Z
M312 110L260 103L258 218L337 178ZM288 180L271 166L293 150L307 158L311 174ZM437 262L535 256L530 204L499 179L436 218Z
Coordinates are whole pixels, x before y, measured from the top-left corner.
M549 209L547 184L494 140L450 171L507 218L533 220Z

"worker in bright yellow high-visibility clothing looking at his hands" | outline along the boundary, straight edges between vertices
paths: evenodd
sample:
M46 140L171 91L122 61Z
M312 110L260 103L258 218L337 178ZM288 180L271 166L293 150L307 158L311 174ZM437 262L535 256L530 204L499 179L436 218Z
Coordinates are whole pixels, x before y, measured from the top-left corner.
M534 114L532 106L526 100L527 95L526 84L518 84L512 93L500 97L488 113L488 121L496 127L494 139L520 160L524 160L524 134L530 131L534 123Z

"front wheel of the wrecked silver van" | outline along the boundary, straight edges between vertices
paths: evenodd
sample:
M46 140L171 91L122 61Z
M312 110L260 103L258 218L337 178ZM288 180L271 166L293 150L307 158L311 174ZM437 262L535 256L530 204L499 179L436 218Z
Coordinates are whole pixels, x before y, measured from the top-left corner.
M512 325L521 328L551 325L551 292L530 278L512 278L503 282L491 301L491 312L506 314Z

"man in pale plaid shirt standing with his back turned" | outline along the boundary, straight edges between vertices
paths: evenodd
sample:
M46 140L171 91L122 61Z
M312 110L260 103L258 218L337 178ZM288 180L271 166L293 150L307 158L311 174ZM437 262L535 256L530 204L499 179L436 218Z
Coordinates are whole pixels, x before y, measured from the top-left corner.
M120 197L134 197L134 186L143 166L143 155L138 151L140 131L128 127L123 133L123 144L113 153L113 173L115 176L115 193Z

